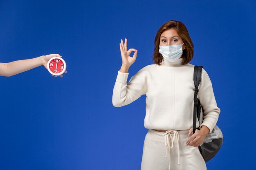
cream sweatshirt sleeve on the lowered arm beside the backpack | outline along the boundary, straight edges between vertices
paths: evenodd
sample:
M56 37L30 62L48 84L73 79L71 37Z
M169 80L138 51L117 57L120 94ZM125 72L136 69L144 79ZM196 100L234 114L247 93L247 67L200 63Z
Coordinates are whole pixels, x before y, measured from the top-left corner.
M211 133L218 121L220 108L217 107L213 93L213 86L209 75L204 68L202 68L202 78L198 89L198 99L200 100L201 106L204 110L204 119L200 125L200 129L202 126L207 126L210 129L209 133Z

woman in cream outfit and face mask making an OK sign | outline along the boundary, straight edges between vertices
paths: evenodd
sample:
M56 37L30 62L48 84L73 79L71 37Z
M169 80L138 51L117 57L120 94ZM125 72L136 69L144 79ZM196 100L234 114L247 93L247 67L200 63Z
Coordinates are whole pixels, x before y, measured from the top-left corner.
M137 57L137 50L127 49L127 39L121 40L121 69L117 73L112 104L125 106L146 95L148 128L144 140L141 170L206 170L198 146L218 121L211 80L202 69L198 99L204 110L200 130L192 133L194 101L193 42L186 26L180 21L168 21L157 31L155 49L150 64L130 78L128 69ZM133 57L130 53L135 51ZM197 128L199 122L197 120Z

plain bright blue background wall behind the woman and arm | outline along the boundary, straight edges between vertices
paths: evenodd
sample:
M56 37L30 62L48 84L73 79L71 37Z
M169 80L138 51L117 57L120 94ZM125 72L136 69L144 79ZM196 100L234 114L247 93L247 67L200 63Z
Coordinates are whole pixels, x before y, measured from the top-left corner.
M0 1L0 62L58 53L67 74L40 66L0 77L0 170L139 170L145 98L112 106L120 39L138 49L128 80L153 64L154 38L182 21L204 66L224 134L209 170L256 170L256 2Z

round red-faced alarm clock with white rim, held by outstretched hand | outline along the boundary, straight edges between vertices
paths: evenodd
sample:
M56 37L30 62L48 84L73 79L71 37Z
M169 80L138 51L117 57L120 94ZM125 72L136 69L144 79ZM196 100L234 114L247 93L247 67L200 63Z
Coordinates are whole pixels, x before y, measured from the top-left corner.
M61 57L52 57L47 64L47 69L52 75L62 75L66 67L66 62Z

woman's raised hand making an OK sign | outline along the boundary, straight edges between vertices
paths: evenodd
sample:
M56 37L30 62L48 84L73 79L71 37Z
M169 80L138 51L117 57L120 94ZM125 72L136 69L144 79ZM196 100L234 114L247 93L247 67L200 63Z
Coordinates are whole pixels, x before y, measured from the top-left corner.
M129 67L132 65L132 63L135 62L136 57L137 57L137 50L135 49L129 49L127 51L127 38L125 38L125 41L123 42L123 40L121 39L121 43L120 45L120 52L121 52L121 57L122 57L122 66L120 71L121 72L128 72ZM132 51L135 51L135 53L133 54L132 57L130 57L130 54L132 53Z

